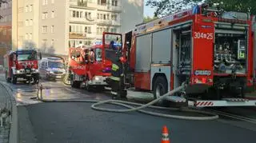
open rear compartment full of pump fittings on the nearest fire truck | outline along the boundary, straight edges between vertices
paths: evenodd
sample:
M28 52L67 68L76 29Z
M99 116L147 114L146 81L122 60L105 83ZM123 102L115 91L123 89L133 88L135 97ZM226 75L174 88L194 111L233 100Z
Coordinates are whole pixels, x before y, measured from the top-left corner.
M219 32L218 32L219 31ZM246 74L247 33L217 30L214 45L214 73Z

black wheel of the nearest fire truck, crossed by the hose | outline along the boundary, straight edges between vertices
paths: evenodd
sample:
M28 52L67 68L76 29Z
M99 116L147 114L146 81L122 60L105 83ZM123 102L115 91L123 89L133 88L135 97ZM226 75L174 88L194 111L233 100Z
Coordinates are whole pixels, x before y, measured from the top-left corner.
M154 81L153 90L154 90L154 99L157 99L158 97L167 93L168 88L167 88L166 78L162 76L157 77L156 80ZM166 100L161 100L161 101L158 101L157 104L167 107L170 105L170 102Z

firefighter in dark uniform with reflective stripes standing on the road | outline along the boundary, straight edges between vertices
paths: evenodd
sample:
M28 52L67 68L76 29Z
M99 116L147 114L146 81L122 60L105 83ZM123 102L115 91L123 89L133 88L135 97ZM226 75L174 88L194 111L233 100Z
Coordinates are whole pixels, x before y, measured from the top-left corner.
M123 64L126 62L124 58L121 57L121 50L118 50L117 56L112 61L112 70L110 76L111 94L115 99L117 97L126 98L127 92L124 86L124 74L123 74Z

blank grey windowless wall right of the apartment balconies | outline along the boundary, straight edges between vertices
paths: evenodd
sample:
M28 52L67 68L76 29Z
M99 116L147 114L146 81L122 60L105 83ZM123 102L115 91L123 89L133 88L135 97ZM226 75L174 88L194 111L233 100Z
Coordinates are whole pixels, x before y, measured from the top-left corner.
M121 32L134 30L143 22L144 0L122 0Z

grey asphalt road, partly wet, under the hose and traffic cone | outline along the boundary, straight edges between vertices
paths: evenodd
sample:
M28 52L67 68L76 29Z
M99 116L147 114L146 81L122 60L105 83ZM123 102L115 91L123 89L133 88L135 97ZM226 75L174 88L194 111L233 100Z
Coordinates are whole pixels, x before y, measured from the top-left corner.
M87 93L61 82L43 81L47 98L106 100L106 93ZM120 143L161 141L162 126L170 130L172 143L255 143L256 121L221 116L215 121L184 121L142 113L106 113L90 109L90 103L42 103L34 101L33 85L11 85L18 101L19 142ZM106 105L109 108L118 108ZM229 110L236 110L230 109ZM170 112L170 111L168 111ZM226 112L226 111L223 111ZM230 113L230 112L229 112ZM239 116L256 120L256 112L239 109Z

